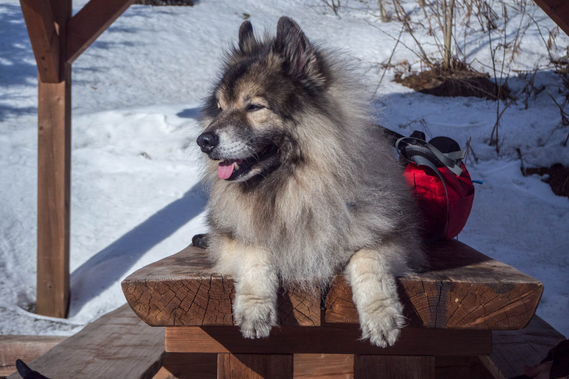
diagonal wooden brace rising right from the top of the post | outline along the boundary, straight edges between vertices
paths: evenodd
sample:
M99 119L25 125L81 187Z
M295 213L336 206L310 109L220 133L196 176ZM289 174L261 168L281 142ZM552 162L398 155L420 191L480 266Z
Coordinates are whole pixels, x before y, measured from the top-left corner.
M73 63L135 0L90 0L67 25L67 63Z

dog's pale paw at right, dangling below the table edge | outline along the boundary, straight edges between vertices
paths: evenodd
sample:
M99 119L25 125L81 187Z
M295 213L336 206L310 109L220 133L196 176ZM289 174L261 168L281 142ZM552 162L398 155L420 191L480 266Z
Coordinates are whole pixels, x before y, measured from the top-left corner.
M403 306L398 299L376 299L367 304L360 313L362 339L379 347L393 345L405 325Z

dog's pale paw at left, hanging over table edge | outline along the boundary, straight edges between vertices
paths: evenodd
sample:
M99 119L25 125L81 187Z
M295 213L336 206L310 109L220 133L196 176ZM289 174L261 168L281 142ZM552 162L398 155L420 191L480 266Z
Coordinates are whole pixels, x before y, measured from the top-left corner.
M237 296L234 315L245 338L266 338L277 324L277 311L271 299Z

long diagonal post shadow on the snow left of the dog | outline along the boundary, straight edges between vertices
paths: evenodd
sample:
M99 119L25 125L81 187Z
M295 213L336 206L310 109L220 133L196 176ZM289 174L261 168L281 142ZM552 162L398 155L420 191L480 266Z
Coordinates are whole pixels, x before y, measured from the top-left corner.
M133 230L102 249L71 274L69 317L113 285L152 247L203 211L207 199L200 184ZM188 235L188 244L192 235ZM175 253L175 252L172 252Z

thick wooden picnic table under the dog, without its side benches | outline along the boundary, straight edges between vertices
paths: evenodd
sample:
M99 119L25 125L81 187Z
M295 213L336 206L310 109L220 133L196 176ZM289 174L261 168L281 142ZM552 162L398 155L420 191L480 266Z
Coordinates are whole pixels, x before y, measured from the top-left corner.
M327 293L282 290L267 339L234 326L233 279L212 272L189 246L122 282L127 302L151 326L166 326L166 351L218 353L218 378L292 378L293 353L354 354L356 378L434 378L435 356L489 355L492 330L526 326L543 285L457 240L430 245L430 268L398 279L409 320L397 343L360 340L351 289L339 274Z

